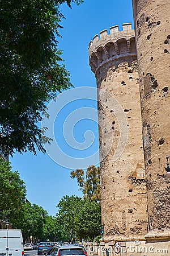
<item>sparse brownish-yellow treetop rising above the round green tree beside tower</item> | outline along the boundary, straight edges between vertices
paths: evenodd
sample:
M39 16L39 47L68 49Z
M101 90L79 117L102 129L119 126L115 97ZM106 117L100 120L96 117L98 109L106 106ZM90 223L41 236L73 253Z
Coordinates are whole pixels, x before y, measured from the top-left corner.
M80 190L84 197L92 201L100 202L100 169L99 167L89 166L86 170L86 178L84 170L71 171L70 176L76 179Z

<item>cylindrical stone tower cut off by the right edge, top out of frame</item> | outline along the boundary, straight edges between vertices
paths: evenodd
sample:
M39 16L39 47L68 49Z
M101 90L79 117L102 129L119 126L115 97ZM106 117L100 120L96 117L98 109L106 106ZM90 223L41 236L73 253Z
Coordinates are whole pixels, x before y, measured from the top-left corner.
M148 237L170 237L170 1L133 0L145 152ZM160 234L160 235L159 235ZM169 252L170 253L170 252Z

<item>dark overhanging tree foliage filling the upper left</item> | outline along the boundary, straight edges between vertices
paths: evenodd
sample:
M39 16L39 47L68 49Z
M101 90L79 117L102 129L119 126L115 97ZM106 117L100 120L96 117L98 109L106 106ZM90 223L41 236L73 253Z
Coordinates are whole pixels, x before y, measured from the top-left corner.
M37 125L45 103L72 86L56 39L59 6L71 2L83 1L0 1L0 146L11 155L45 152Z

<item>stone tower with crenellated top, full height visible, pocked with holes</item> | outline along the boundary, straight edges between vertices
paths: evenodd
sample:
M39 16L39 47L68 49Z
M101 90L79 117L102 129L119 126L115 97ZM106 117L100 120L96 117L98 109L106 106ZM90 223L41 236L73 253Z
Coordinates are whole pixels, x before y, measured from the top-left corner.
M101 219L105 241L132 241L147 233L137 52L131 23L122 26L123 31L118 26L111 27L109 34L101 31L100 38L96 35L88 48L100 89ZM103 90L108 94L103 96ZM125 148L119 149L113 159L120 141L122 147L125 142Z

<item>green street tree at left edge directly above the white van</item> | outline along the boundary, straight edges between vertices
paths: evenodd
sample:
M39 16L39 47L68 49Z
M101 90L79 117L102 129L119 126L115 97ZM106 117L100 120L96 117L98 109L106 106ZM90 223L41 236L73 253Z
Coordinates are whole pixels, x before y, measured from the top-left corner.
M0 158L0 220L19 220L23 213L26 188L17 171L12 172L9 162Z

